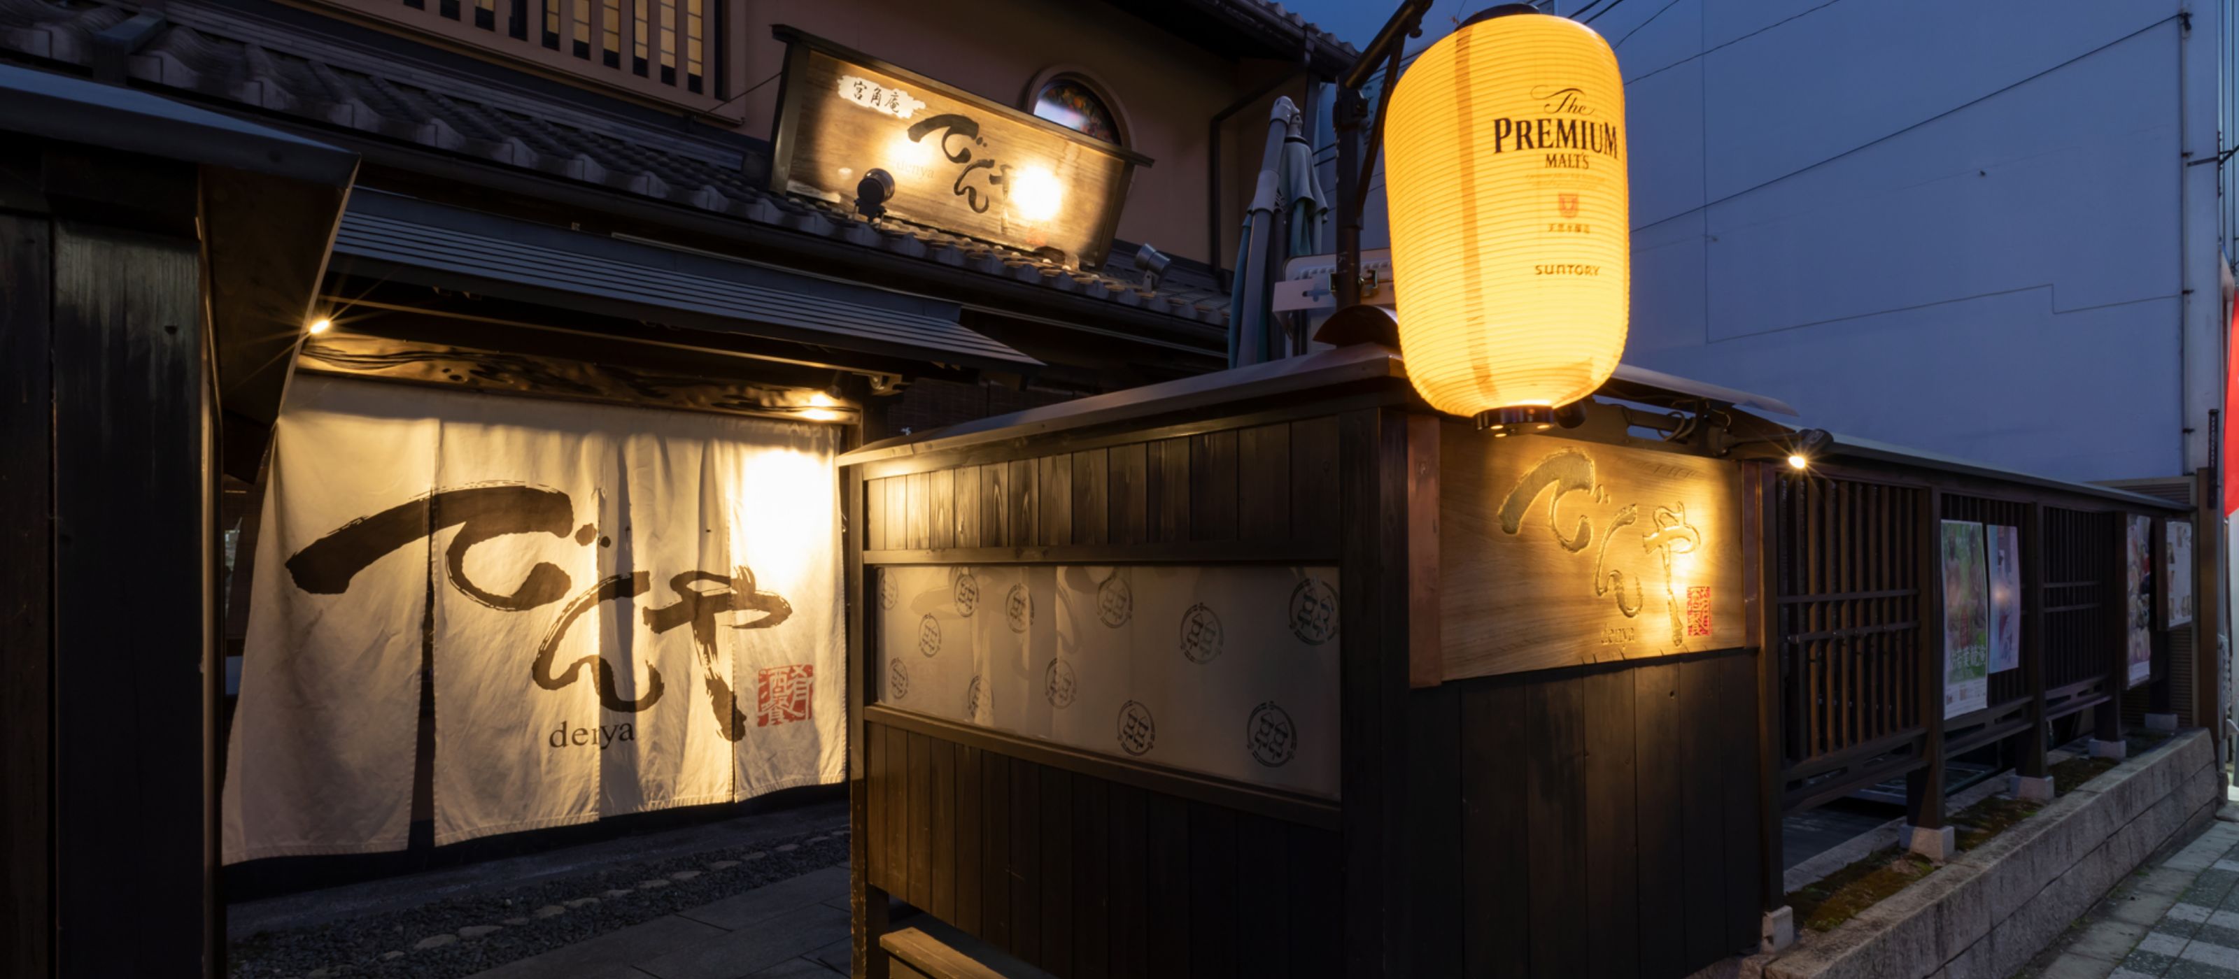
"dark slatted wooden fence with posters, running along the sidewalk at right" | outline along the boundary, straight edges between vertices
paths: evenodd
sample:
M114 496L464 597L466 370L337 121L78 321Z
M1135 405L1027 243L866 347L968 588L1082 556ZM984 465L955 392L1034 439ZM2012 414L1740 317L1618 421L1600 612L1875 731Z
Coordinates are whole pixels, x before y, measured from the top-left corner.
M2167 521L2145 498L2042 481L1959 476L1928 465L1767 472L1773 601L1773 814L1811 809L1905 778L1912 825L1943 825L1943 764L1997 747L2022 776L2046 773L2053 724L2089 711L2120 740L2127 677L2125 516L2149 516L2154 563ZM1939 521L2020 527L2022 664L1990 673L1986 706L1943 717ZM2203 536L2208 539L2208 536ZM2196 595L2214 595L2203 563ZM2167 711L2163 621L2154 612L2149 700ZM2185 626L2194 628L2194 626ZM2080 722L2069 722L2080 724ZM1778 836L1778 829L1776 829ZM1767 899L1778 901L1769 867Z

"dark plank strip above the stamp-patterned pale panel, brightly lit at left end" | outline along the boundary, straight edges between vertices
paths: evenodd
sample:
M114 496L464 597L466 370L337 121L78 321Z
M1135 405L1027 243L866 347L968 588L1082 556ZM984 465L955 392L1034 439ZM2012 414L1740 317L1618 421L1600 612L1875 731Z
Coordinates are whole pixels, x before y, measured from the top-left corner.
M864 550L1245 543L1337 552L1337 418L871 478ZM969 559L972 554L958 554Z

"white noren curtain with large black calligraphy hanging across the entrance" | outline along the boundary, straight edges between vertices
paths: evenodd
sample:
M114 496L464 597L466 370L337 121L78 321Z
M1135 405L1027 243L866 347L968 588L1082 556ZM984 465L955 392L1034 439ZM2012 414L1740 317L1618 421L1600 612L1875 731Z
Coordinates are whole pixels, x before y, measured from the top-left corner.
M837 429L298 376L273 438L226 863L405 849L423 677L437 845L844 778Z

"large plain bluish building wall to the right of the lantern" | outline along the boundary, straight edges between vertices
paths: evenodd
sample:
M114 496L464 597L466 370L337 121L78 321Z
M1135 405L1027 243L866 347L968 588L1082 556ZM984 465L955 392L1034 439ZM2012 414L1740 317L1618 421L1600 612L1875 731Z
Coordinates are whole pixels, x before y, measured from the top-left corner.
M1632 145L1626 360L2046 476L2205 465L2226 210L2185 152L2217 154L2228 2L1592 4Z

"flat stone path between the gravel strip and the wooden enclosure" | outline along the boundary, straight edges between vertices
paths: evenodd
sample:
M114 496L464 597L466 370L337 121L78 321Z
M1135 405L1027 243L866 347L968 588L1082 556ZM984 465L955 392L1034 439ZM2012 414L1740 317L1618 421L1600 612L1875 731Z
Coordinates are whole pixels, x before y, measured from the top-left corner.
M846 865L477 972L470 979L833 979L849 975Z

